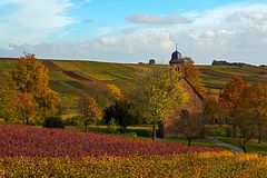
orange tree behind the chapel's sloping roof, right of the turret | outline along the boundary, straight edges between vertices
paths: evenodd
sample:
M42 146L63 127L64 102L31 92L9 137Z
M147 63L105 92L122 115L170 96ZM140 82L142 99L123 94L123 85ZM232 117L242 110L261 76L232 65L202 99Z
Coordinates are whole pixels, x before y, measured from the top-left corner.
M195 61L186 57L184 59L184 66L182 66L185 78L190 82L190 85L201 95L205 96L205 88L202 85L202 79L199 77L199 70L195 66Z

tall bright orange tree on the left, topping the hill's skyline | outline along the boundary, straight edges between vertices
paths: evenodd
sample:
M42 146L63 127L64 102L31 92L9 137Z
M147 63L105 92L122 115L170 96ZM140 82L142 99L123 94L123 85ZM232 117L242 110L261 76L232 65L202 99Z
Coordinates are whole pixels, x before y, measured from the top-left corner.
M29 103L28 106L19 105L20 112L27 111L27 107L30 106L36 110L31 116L34 122L38 122L38 119L43 121L42 119L56 113L57 96L49 88L48 71L44 65L34 55L29 53L19 59L17 68L11 71L11 79L18 90L18 97ZM29 122L27 121L27 123Z

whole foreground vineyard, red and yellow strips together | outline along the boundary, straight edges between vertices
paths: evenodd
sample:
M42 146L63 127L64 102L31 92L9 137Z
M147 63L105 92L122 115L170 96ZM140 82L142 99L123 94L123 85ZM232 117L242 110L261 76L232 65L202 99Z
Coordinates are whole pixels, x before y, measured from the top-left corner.
M0 123L0 177L266 177L267 157Z

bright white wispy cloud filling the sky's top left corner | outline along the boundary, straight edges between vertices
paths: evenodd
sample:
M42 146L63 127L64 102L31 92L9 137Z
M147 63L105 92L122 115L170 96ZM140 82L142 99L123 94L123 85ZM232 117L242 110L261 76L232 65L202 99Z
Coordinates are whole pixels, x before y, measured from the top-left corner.
M66 14L71 6L69 0L1 0L0 8L10 10L0 16L0 47L40 42L73 21Z

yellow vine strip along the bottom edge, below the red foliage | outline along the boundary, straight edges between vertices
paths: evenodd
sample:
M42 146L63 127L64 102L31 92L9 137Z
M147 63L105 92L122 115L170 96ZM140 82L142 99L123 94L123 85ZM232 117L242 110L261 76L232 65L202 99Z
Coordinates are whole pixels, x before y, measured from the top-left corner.
M230 152L174 156L27 158L0 157L2 177L267 177L267 157Z

